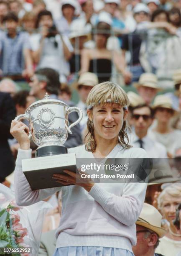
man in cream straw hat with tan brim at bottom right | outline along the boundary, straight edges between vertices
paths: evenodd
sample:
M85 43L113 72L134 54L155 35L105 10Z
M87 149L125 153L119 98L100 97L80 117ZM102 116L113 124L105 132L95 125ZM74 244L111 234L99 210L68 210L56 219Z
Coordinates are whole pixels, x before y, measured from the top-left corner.
M166 233L161 228L162 216L152 205L144 203L140 217L136 221L137 244L133 246L135 256L161 256L155 253L159 238Z

